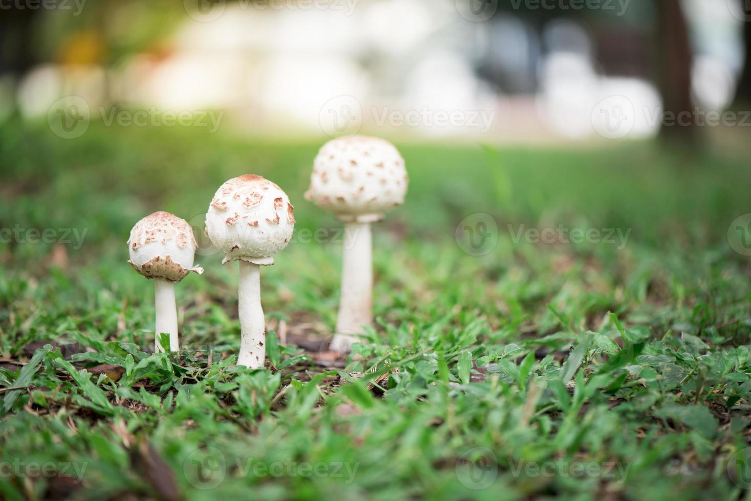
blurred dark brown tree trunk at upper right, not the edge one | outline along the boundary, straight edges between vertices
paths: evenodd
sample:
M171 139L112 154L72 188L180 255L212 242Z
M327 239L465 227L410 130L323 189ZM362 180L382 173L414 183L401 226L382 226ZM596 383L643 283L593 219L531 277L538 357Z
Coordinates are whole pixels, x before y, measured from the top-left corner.
M659 40L659 83L665 104L662 137L683 144L695 144L697 136L691 100L692 55L689 28L680 0L659 0L657 29Z

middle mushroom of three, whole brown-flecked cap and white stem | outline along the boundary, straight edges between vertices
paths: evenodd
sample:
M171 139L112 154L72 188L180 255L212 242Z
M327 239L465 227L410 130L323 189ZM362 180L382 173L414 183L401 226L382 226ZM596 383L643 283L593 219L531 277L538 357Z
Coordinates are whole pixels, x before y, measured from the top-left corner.
M230 179L219 187L209 205L206 233L225 253L222 264L240 261L239 365L264 366L266 326L259 267L273 265L273 255L287 247L293 229L293 207L286 193L260 175Z

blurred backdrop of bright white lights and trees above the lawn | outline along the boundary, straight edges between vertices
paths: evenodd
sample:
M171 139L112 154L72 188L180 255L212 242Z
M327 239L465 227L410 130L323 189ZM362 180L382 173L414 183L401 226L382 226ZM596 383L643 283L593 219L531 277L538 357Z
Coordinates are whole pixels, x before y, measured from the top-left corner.
M210 130L272 136L695 145L751 125L722 115L751 101L747 4L16 0L0 119L213 110Z

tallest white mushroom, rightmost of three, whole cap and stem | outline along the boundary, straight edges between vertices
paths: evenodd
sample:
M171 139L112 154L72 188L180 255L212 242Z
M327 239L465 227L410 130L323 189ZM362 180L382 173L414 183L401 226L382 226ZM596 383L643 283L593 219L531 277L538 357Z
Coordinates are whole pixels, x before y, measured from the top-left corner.
M313 161L306 199L344 222L342 291L331 349L350 351L372 323L370 223L404 202L404 159L390 142L366 136L333 139Z

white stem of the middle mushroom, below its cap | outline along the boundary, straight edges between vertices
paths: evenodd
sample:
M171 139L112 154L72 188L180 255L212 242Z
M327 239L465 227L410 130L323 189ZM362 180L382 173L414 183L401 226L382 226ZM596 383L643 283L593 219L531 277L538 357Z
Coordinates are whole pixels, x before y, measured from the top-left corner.
M237 364L249 368L264 367L266 326L261 308L261 267L240 261L240 287L237 291L240 314L240 355Z

